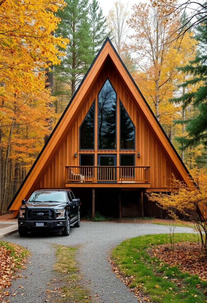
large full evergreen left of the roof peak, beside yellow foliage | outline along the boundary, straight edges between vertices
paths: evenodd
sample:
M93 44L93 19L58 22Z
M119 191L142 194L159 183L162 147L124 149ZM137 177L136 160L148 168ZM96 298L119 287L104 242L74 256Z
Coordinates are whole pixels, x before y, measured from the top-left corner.
M72 97L83 76L86 74L93 61L92 35L88 21L89 0L66 0L67 6L63 11L58 11L61 18L56 35L69 38L70 43L63 52L66 55L61 58L61 64L55 68L56 79L70 86ZM59 92L57 94L69 93Z

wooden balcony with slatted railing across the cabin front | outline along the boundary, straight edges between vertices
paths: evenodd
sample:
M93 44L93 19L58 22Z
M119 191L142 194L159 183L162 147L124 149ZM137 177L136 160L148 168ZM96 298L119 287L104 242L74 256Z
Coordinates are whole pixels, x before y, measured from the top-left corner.
M65 166L66 187L149 187L150 166Z

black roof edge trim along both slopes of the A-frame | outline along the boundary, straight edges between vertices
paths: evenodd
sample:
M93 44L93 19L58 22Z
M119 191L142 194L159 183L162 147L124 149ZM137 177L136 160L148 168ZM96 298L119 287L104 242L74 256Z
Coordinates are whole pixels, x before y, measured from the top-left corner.
M73 95L73 97L71 98L71 100L70 100L70 102L68 103L68 105L67 105L66 109L64 110L64 112L63 112L62 116L60 117L60 120L57 122L56 126L54 127L53 131L51 132L51 134L50 134L49 138L47 139L47 142L45 143L45 145L44 145L43 149L40 151L39 155L37 156L37 159L34 161L34 164L33 164L33 165L32 165L32 167L30 168L30 170L29 170L28 174L26 175L26 177L25 177L24 181L23 181L23 182L22 182L22 184L20 185L20 187L19 187L18 191L16 192L16 194L15 194L14 198L11 200L11 202L10 202L10 204L9 204L9 206L8 206L8 208L7 208L7 210L9 210L9 208L11 207L11 205L12 205L12 203L14 202L15 198L17 197L18 193L20 192L20 190L21 190L22 186L24 185L25 181L27 180L27 178L28 178L28 177L29 177L29 175L31 174L31 171L33 170L33 168L34 168L34 166L36 165L37 161L39 160L40 156L42 155L42 153L43 153L44 149L46 148L47 144L49 143L49 141L50 141L51 137L53 136L54 132L56 131L56 129L57 129L57 127L58 127L58 125L60 124L60 122L61 122L61 120L62 120L63 116L66 114L66 112L67 112L67 110L68 110L68 108L69 108L70 104L73 102L73 99L75 98L75 96L76 96L77 92L79 91L79 89L80 89L81 85L82 85L82 84L83 84L83 82L85 81L85 79L86 79L86 77L87 77L88 73L90 72L90 70L91 70L92 66L94 65L94 63L95 63L96 59L98 58L99 54L102 52L102 49L104 48L104 46L105 46L105 44L106 44L107 42L109 42L109 43L110 43L110 45L112 46L112 48L113 48L113 50L114 50L115 54L118 56L118 58L119 58L119 60L120 60L121 64L122 64L122 65L123 65L123 67L125 68L125 71L128 73L129 77L131 78L131 81L133 82L133 84L134 84L134 85L135 85L135 87L137 88L137 91L140 93L141 97L143 98L144 102L146 103L147 107L149 108L149 110L150 110L151 114L153 115L153 117L154 117L154 118L155 118L155 120L157 121L157 118L155 117L155 115L154 115L153 111L151 110L151 108L150 108L149 104L147 103L147 101L145 100L144 96L142 95L142 93L141 93L140 89L138 88L138 86L137 86L137 85L136 85L136 83L134 82L134 79L133 79L133 78L132 78L132 76L130 75L130 73L129 73L128 69L126 68L126 66L124 65L123 61L121 60L121 58L120 58L120 56L119 56L118 52L116 51L116 49L115 49L114 45L112 44L111 40L110 40L110 39L107 37L107 38L106 38L106 40L105 40L105 42L104 42L104 44L103 44L103 45L102 45L102 47L100 48L100 50L99 50L98 54L96 55L95 59L93 60L93 62L92 62L92 64L91 64L91 66L89 67L88 72L87 72L87 73L86 73L86 75L83 77L83 79L82 79L81 83L79 84L79 86L78 86L78 88L77 88L77 90L76 90L75 94L74 94L74 95ZM160 123L159 123L158 121L157 121L157 124L158 124L158 125L159 125L159 127L161 128L162 132L164 133L164 135L165 135L166 139L167 139L167 140L168 140L168 142L170 143L170 145L171 145L171 147L173 148L174 152L176 153L176 155L177 155L177 156L178 156L178 158L180 159L180 161L181 161L181 163L183 164L183 167L185 168L186 172L189 174L188 169L186 168L185 164L184 164L184 163L183 163L183 161L181 160L181 158L180 158L180 156L178 155L178 153L177 153L176 149L174 148L173 144L170 142L169 138L167 137L167 135L166 135L165 131L163 130L162 126L160 125Z

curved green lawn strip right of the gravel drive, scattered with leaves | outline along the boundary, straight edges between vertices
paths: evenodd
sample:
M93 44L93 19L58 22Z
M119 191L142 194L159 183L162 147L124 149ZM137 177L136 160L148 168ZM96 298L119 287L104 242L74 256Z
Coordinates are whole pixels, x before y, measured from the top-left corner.
M197 241L195 234L176 234L175 242ZM145 235L127 239L112 251L112 260L121 274L134 276L130 288L138 287L154 302L163 303L199 303L207 302L203 294L207 287L206 281L201 281L198 275L181 272L178 267L151 258L147 249L152 245L169 242L169 235ZM178 286L176 279L179 281Z

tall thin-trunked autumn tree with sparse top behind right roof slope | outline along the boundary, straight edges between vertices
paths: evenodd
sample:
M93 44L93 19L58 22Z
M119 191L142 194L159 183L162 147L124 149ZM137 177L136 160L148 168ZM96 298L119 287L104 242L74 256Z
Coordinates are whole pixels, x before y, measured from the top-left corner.
M131 36L130 50L136 55L140 69L137 84L151 105L158 121L162 121L161 102L172 97L174 79L178 74L175 34L179 24L177 17L168 20L162 7L153 7L150 2L133 6L134 13L128 20L135 34ZM169 110L172 115L172 108ZM167 111L165 111L166 113ZM164 117L166 119L166 117Z

